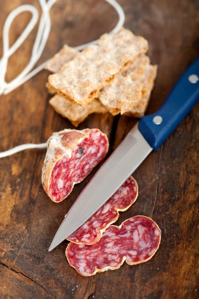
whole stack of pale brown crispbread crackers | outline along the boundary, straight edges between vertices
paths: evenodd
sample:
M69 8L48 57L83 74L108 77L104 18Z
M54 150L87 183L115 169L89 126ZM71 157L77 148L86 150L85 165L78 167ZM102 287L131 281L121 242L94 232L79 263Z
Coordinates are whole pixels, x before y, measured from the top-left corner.
M147 40L125 28L82 52L64 45L46 66L50 105L76 127L91 113L142 117L157 75L147 50Z

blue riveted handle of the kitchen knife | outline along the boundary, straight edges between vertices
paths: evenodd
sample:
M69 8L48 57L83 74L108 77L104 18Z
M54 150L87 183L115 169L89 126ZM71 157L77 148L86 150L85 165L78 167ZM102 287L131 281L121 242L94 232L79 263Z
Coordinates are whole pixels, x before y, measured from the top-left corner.
M138 129L153 149L159 149L198 101L199 58L181 76L161 108L140 119Z

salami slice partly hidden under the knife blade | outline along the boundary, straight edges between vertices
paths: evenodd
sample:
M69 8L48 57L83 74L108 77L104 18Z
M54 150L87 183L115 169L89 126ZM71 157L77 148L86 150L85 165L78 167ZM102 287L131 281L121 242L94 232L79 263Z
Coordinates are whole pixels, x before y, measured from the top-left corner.
M126 211L138 197L138 185L130 176L109 200L67 239L76 244L93 245L102 233Z

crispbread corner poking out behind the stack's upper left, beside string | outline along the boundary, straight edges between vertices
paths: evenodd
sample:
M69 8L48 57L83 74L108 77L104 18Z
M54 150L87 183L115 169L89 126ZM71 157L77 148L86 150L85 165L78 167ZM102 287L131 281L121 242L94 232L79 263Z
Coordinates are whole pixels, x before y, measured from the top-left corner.
M45 69L52 73L57 73L66 62L75 58L78 53L79 51L74 48L71 48L68 45L63 45L61 50L49 60Z

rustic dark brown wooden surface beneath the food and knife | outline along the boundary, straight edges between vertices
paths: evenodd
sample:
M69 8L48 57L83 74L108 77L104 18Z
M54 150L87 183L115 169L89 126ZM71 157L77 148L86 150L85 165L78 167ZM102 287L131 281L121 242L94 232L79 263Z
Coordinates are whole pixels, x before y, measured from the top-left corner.
M125 26L146 37L152 63L159 65L147 113L153 113L169 90L199 54L197 0L119 0ZM7 14L19 4L37 0L0 1L0 40ZM30 14L18 17L10 43L18 37ZM75 46L111 30L115 11L102 0L58 0L51 10L52 29L40 62L64 43ZM27 63L35 38L9 61L7 80ZM1 47L0 47L1 51ZM1 56L1 53L0 53ZM0 151L23 143L45 142L54 131L72 128L48 105L42 71L7 96L0 97ZM110 152L135 120L92 115L79 128L99 128L108 135ZM0 159L0 298L1 299L194 299L199 296L199 104L165 144L143 162L134 177L137 202L121 214L117 224L134 215L152 217L162 230L162 243L149 262L84 278L65 258L67 242L48 253L63 216L97 168L67 200L53 203L41 186L44 150L26 150Z

